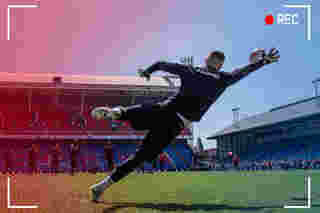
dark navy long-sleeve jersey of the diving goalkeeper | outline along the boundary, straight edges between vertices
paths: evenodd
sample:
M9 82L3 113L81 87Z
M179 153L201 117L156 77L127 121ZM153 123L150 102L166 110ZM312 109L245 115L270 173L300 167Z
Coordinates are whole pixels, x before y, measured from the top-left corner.
M205 68L176 63L157 62L145 72L165 71L179 75L179 92L163 104L189 121L200 121L210 106L217 101L227 87L263 66L263 62L249 64L233 72L206 71Z

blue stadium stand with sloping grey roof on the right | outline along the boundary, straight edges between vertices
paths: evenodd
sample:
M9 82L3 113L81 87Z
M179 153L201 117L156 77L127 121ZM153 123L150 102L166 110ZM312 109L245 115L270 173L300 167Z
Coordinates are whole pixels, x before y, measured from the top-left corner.
M318 160L320 99L312 97L241 119L208 137L217 140L220 160L227 153L242 161Z

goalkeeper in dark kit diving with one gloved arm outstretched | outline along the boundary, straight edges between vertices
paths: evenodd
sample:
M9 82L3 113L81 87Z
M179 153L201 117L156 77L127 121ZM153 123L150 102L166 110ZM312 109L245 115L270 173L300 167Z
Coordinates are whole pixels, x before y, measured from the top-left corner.
M126 177L144 161L152 162L157 158L182 129L188 127L191 122L201 120L226 88L264 65L277 62L279 58L279 51L275 48L268 53L258 49L250 54L249 65L228 73L219 71L225 60L224 53L213 51L207 57L205 67L157 62L147 69L139 69L139 75L147 80L155 71L179 75L180 91L177 95L159 103L115 108L104 106L92 110L91 115L97 120L128 121L135 130L149 130L141 149L134 157L118 166L100 183L90 187L92 201L98 202L108 187Z

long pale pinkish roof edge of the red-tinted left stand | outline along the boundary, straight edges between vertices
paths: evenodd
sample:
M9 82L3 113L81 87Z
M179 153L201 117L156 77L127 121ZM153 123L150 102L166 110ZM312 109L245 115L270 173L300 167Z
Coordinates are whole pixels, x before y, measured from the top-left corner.
M0 83L52 83L55 77L61 77L62 82L67 84L169 86L168 81L160 76L152 76L150 81L146 81L138 76L94 76L8 72L0 72Z

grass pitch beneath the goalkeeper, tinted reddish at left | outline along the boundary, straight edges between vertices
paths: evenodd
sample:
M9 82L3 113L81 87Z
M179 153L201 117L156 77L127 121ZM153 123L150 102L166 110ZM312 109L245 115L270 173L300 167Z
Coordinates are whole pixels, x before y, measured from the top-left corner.
M11 177L10 205L37 209L8 209L7 177L2 175L0 212L320 212L320 171L132 173L109 188L102 203L91 203L88 187L105 175ZM311 177L311 208L284 209L306 205L305 176Z

